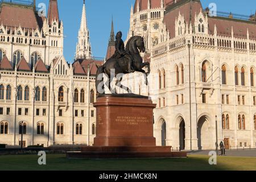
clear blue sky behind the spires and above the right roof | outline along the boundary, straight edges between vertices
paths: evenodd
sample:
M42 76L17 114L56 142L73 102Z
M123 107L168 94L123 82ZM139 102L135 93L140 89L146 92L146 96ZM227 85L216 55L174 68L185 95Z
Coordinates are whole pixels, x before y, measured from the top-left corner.
M160 1L160 0L159 0ZM46 3L49 0L40 0L36 3ZM129 30L130 8L135 0L85 0L90 42L93 56L105 57L110 35L112 15L114 30L123 32L126 39ZM255 13L255 0L201 0L203 7L209 3L216 3L218 11L250 15ZM68 62L73 61L76 50L77 33L80 27L82 0L59 0L60 19L64 22L64 56Z

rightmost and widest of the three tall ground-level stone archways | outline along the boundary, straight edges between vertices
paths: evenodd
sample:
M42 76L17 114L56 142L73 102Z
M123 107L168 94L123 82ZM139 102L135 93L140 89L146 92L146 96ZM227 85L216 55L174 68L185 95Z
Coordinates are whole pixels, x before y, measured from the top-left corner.
M198 149L208 150L212 146L212 137L210 135L209 121L207 116L202 116L197 123Z

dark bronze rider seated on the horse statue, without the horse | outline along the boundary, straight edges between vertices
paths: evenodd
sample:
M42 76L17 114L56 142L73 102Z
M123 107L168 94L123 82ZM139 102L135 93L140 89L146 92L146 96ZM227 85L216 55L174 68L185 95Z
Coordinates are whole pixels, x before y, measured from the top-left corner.
M117 35L115 36L115 53L111 57L112 59L120 59L122 57L126 57L128 60L126 72L133 73L135 72L133 69L133 57L129 54L129 52L125 51L125 44L122 40L122 32L117 32ZM120 61L119 61L120 63Z

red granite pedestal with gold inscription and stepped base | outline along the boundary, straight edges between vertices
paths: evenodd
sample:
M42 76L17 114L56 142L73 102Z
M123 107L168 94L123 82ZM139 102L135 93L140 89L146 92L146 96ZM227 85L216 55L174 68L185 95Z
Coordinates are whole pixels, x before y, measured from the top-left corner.
M172 152L171 146L156 146L153 109L148 97L135 94L100 95L96 138L93 147L67 152L68 158L181 158L187 152Z

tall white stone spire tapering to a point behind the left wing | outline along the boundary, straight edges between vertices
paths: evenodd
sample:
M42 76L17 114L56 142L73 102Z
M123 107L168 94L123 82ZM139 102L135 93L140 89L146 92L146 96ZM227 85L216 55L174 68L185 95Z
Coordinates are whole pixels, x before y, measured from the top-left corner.
M78 42L76 45L76 59L92 59L92 52L89 39L89 30L87 28L84 0L84 5L82 6L81 26L79 30Z

